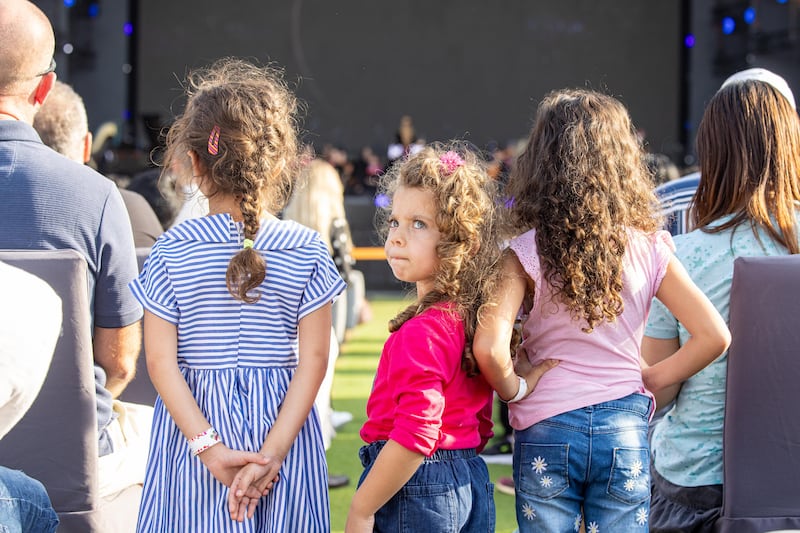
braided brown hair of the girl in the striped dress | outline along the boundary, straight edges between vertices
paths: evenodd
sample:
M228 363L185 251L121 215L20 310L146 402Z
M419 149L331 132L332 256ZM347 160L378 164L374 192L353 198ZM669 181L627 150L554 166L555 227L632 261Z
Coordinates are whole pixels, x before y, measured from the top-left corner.
M180 162L186 154L197 154L208 170L204 179L210 195L239 199L242 237L252 240L261 216L279 212L292 192L299 154L297 99L280 70L236 58L190 73L186 94L186 109L167 134L164 171L185 168ZM220 131L219 151L211 154L208 142L215 126ZM243 249L228 265L228 291L254 303L258 297L248 292L265 276L261 254Z

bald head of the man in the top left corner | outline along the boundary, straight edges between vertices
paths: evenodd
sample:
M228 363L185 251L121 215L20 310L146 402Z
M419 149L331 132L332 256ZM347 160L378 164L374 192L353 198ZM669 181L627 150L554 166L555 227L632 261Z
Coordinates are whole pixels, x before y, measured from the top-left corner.
M0 1L0 95L36 86L55 52L53 26L28 0Z

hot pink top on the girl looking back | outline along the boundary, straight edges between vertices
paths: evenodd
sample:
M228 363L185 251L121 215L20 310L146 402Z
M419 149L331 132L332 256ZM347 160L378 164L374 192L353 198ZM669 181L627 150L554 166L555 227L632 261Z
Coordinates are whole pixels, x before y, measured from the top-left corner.
M394 440L430 456L483 449L492 436L492 389L461 369L464 324L447 304L425 310L383 347L361 438Z

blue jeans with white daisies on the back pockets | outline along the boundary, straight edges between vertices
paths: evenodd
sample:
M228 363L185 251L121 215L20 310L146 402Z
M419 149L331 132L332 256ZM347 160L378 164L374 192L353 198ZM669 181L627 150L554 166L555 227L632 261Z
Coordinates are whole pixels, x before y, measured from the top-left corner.
M651 400L583 407L514 432L520 533L647 531Z

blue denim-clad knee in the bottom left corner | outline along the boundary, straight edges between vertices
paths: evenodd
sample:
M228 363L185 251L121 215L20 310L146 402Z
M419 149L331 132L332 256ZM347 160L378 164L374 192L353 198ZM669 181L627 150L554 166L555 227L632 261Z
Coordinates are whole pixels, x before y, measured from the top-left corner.
M58 515L44 486L0 466L0 533L52 533Z

